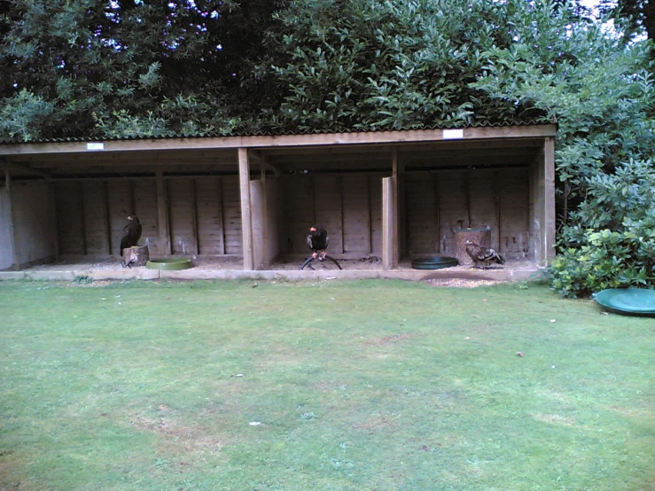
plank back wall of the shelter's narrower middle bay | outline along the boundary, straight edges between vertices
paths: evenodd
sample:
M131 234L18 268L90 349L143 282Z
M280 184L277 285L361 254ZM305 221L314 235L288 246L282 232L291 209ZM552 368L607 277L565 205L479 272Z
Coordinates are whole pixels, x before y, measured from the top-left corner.
M305 253L309 227L320 224L332 254L382 254L381 175L291 175L283 193L284 253Z

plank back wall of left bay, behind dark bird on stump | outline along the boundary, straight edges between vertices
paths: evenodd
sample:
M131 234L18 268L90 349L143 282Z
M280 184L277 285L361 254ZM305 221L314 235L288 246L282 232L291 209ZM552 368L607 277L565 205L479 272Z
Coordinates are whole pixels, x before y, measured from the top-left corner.
M172 178L164 183L173 253L242 253L237 176ZM142 223L141 244L147 242L151 251L157 251L153 179L62 181L56 184L55 197L59 253L117 255L129 214Z

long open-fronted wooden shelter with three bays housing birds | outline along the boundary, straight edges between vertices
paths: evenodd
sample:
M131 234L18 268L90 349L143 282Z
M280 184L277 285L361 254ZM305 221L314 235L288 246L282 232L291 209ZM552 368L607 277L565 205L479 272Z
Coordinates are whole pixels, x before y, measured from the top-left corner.
M129 214L154 256L336 258L452 253L456 230L554 254L555 125L280 136L0 144L0 270L66 255L118 256ZM118 257L117 257L118 260Z

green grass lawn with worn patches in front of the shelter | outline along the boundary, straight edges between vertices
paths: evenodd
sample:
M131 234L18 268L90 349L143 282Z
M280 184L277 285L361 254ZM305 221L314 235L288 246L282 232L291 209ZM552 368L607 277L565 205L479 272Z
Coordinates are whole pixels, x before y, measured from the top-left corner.
M544 286L0 282L0 325L0 489L655 489L655 320Z

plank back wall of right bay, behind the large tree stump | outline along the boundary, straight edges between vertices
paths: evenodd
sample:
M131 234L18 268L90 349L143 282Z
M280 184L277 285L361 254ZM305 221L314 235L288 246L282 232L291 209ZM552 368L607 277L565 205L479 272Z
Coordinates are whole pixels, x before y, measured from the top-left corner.
M460 227L491 227L492 247L532 257L527 168L444 170L406 178L409 256L453 253Z

